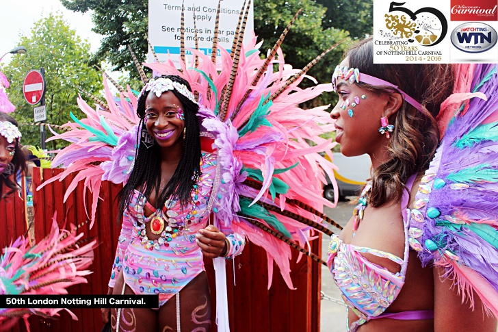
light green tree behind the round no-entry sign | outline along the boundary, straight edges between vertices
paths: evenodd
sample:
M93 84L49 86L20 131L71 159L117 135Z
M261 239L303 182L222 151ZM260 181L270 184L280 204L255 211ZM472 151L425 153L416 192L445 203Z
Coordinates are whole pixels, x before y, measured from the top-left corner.
M76 31L70 29L61 14L49 14L34 23L29 36L21 36L18 44L28 52L16 55L3 73L10 81L9 99L17 109L12 116L19 123L33 123L33 107L23 97L23 81L31 69L43 67L47 91L47 123L62 125L70 120L70 112L81 118L83 114L77 106L78 90L82 88L94 95L103 88L101 75L88 65L90 44L82 42ZM40 146L40 129L21 125L23 144ZM47 138L51 136L47 131ZM61 142L53 142L53 148Z

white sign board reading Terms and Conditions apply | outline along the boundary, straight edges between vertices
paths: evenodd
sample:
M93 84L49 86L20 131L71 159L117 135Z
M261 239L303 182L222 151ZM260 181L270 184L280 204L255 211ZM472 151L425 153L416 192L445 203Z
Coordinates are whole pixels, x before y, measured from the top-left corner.
M244 40L250 40L252 31L254 31L253 2L251 2L248 12ZM196 31L200 51L209 57L211 56L216 12L218 10L218 0L148 1L148 38L150 44L153 45L159 61L172 60L176 68L179 68L182 3L184 3L185 7L185 54L188 61L192 61L192 53L187 48L195 49ZM218 62L220 61L220 47L223 47L228 52L232 48L242 5L244 5L244 0L224 0L221 3L218 30ZM196 16L195 29L194 13ZM150 50L148 52L148 62L155 62Z

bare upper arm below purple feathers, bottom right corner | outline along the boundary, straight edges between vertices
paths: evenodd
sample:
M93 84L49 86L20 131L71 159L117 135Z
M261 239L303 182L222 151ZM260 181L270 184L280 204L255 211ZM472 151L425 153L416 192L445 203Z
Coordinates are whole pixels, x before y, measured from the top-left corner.
M497 320L493 315L486 315L479 296L473 294L471 308L469 298L462 301L458 285L443 274L442 268L434 268L434 331L496 332Z

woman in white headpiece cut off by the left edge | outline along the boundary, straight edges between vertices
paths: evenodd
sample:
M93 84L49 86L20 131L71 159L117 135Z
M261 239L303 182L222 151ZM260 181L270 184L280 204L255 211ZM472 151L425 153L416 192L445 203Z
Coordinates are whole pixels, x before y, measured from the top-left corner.
M18 189L15 175L26 172L26 159L19 144L21 131L16 120L0 112L0 197L4 198Z

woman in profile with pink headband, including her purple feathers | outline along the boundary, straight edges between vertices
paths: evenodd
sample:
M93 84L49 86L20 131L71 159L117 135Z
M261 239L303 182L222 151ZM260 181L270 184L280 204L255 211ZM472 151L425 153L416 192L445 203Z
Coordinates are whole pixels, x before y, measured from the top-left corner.
M374 64L369 38L332 84L341 152L372 162L329 246L348 331L496 331L495 65Z

